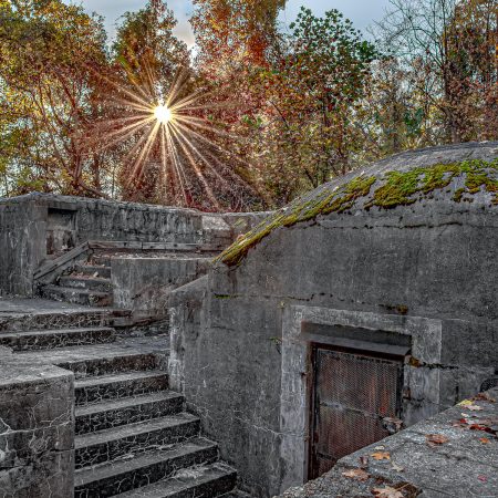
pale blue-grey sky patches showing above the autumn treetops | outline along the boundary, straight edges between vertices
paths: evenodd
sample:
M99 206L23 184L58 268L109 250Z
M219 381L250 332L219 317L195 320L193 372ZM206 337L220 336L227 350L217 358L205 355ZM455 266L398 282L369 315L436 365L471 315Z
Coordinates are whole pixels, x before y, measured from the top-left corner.
M115 32L116 20L126 11L138 10L145 6L146 0L66 0L71 3L82 4L89 12L97 12L105 18L105 27L112 39ZM187 0L169 0L168 6L174 10L178 20L175 34L184 40L188 46L194 44L194 37L188 23L191 13L191 2ZM374 21L383 17L388 7L388 0L288 0L286 11L280 20L289 25L297 17L301 6L321 15L330 9L338 9L349 19L355 28L364 31Z

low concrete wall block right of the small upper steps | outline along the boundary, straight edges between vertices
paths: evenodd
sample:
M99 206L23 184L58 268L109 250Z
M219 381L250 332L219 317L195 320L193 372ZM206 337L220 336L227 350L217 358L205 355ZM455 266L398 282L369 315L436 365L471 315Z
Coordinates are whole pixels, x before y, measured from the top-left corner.
M166 314L168 293L205 274L214 256L176 253L160 258L113 258L114 305Z

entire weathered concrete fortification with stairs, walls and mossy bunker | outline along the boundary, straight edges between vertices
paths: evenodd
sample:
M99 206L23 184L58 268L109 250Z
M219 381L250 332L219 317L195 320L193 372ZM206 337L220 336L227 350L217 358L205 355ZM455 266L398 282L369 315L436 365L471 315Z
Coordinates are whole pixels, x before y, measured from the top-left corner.
M383 479L405 498L490 496L497 447L454 405L473 396L466 418L496 443L497 390L479 391L498 383L497 157L404 153L268 216L3 199L0 490L294 498ZM344 476L393 433L406 471ZM452 444L436 452L435 433Z

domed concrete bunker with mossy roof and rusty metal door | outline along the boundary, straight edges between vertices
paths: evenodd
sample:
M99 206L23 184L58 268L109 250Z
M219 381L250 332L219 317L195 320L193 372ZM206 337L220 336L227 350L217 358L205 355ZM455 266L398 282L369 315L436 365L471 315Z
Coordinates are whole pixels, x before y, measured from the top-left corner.
M326 470L312 461L320 437L334 439L318 427L313 440L318 357L356 375L320 392L335 421L374 421L350 453L496 383L497 156L496 143L434 147L335 179L173 293L172 383L245 489L272 496ZM393 409L347 405L363 367Z

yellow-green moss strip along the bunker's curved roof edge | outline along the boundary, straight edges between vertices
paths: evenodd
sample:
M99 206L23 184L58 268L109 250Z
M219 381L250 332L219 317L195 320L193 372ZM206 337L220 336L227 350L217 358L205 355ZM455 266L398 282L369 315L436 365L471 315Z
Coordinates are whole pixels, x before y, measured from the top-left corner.
M351 181L332 188L323 186L289 206L278 210L256 228L240 237L226 249L216 261L232 266L240 262L248 250L279 227L291 227L310 221L319 215L343 212L351 209L359 199L364 199L363 208L376 206L391 209L406 206L421 198L432 198L435 190L448 187L457 177L465 177L464 187L455 190L453 200L463 199L465 194L474 195L481 189L494 194L491 203L498 205L498 158L491 163L473 159L463 163L436 164L432 167L415 167L405 173L387 172L382 178L360 175ZM372 186L380 181L371 196ZM369 199L369 200L367 200Z

